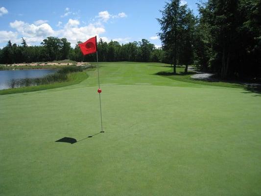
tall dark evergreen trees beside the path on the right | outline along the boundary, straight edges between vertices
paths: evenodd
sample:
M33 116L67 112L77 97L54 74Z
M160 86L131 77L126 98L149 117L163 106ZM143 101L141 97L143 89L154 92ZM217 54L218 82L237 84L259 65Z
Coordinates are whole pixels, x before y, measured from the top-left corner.
M198 11L170 0L157 19L173 72L193 63L221 78L261 79L261 0L208 0Z

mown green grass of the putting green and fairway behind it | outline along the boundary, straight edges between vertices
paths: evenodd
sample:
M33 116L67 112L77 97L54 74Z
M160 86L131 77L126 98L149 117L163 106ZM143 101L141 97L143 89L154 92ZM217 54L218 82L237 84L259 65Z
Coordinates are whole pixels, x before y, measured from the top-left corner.
M0 196L261 195L260 94L156 75L171 71L160 63L100 66L105 133L95 70L0 96Z

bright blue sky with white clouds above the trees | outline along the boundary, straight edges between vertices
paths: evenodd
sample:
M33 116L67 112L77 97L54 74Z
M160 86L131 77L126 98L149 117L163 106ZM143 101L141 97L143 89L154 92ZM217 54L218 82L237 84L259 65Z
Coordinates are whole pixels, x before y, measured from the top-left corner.
M8 40L39 45L47 36L66 37L74 47L97 35L120 43L147 39L160 47L156 18L166 0L0 0L0 48ZM182 0L197 14L199 0Z

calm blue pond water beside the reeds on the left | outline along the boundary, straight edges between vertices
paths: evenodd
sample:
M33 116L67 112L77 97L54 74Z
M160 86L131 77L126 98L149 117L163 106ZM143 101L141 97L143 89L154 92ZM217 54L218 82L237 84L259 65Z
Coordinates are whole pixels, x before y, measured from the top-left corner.
M57 70L5 70L0 71L0 90L13 88L12 82L25 78L44 77Z

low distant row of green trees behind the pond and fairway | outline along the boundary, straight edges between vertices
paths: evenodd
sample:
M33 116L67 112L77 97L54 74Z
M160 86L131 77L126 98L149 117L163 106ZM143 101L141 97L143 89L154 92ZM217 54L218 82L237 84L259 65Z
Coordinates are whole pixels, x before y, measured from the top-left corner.
M81 43L81 42L78 42ZM138 62L163 62L164 51L156 49L148 40L141 42L119 44L109 43L100 39L97 43L99 61L138 61ZM0 50L0 64L45 62L53 60L70 59L78 62L96 61L96 54L82 55L78 45L71 48L71 43L66 38L47 37L41 46L27 46L22 38L21 45L8 41L7 46Z

